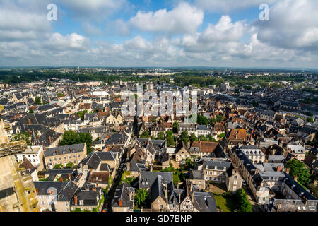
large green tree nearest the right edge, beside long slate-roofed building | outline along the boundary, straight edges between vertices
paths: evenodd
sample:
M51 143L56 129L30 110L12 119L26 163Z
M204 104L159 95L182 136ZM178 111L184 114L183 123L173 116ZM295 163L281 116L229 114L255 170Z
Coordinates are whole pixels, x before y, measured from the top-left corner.
M290 176L297 176L297 181L303 186L307 186L312 181L310 179L310 170L307 169L304 162L300 162L294 158L293 160L289 160L285 167L290 169Z

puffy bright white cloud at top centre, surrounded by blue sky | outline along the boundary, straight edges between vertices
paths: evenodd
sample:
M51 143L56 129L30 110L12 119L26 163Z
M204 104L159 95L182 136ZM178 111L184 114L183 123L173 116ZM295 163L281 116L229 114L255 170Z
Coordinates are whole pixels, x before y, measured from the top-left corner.
M142 31L193 34L203 23L203 19L203 11L187 3L181 3L171 11L167 9L155 12L139 11L129 23Z

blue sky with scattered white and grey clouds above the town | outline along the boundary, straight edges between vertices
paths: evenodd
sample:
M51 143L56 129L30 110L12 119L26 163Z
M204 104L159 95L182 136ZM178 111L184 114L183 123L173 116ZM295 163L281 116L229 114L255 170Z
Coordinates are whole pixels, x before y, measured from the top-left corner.
M0 0L0 66L317 69L318 1Z

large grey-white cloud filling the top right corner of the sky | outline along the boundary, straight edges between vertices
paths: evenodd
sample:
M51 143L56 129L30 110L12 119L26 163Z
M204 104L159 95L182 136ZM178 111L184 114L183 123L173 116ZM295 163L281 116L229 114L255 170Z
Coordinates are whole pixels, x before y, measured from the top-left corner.
M318 50L317 0L281 0L269 12L270 21L254 23L261 42L287 49Z

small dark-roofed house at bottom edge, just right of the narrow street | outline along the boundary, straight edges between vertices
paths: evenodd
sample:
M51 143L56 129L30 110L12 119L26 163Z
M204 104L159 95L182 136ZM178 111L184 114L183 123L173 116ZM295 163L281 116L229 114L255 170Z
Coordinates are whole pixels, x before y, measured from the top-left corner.
M123 182L115 191L112 200L112 212L134 211L135 189Z

